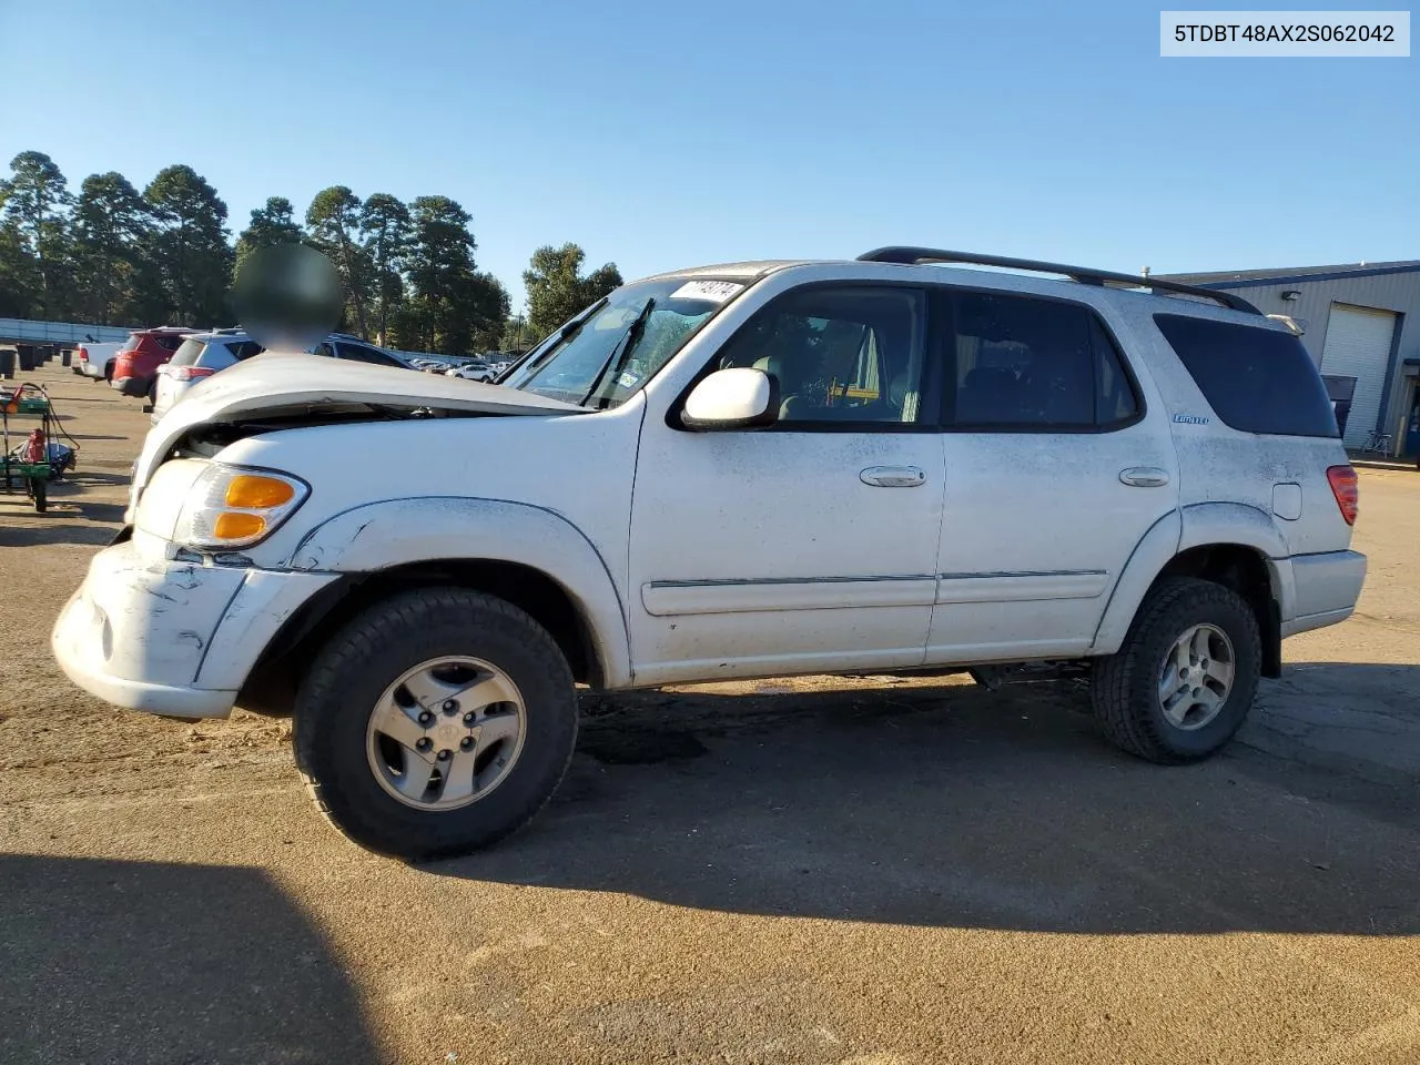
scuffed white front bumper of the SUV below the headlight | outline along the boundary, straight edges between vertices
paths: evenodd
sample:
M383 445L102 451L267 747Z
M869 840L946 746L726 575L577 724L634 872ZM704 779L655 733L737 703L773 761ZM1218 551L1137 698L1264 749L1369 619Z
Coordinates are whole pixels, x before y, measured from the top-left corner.
M65 676L129 710L226 717L283 622L334 577L172 562L136 541L94 557L50 645Z

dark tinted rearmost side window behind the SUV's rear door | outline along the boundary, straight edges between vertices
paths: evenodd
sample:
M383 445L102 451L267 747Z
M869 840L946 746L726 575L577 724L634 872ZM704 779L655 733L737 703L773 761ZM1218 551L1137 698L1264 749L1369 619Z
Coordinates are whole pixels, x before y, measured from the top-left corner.
M1326 385L1289 332L1181 314L1154 324L1223 423L1268 436L1339 436Z

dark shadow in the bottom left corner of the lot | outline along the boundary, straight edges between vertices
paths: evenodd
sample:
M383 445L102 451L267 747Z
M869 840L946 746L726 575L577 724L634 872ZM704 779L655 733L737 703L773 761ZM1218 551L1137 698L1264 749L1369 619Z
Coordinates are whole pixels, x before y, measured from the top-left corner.
M257 869L0 855L0 1061L376 1062L324 936Z

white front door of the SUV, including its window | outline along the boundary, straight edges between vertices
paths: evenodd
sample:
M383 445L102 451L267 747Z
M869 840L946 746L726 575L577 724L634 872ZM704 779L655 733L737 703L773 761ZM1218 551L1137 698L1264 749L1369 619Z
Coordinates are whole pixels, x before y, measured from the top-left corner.
M648 419L626 604L638 683L922 662L943 497L924 327L920 290L792 290L714 359L770 373L778 423Z

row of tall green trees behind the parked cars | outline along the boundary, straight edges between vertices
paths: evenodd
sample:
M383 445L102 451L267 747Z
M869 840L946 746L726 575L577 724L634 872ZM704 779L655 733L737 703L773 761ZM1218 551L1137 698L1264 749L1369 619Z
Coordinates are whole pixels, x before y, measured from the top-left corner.
M230 325L234 271L257 248L305 243L345 285L342 329L406 351L525 348L622 284L608 263L582 273L577 244L540 247L523 274L525 315L477 268L471 216L447 196L361 199L334 185L297 220L267 199L236 241L227 204L193 168L166 166L139 192L116 172L75 196L54 160L20 152L0 180L0 318L98 325Z

